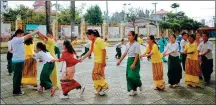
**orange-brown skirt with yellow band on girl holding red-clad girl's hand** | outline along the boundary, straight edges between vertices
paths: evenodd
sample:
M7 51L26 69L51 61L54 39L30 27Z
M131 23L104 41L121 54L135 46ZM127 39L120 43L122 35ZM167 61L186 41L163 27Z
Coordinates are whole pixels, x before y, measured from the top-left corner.
M100 92L103 88L109 88L109 85L105 79L104 70L105 68L102 67L101 63L94 63L94 68L92 71L92 80L94 82L94 88L97 92Z

